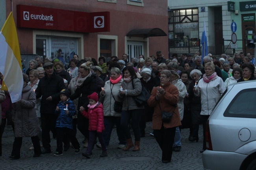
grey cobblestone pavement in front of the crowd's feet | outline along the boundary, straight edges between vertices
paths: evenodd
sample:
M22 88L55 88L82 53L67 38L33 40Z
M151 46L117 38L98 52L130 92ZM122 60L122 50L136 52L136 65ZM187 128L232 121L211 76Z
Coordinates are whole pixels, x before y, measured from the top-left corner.
M161 149L154 137L150 137L151 123L147 123L146 137L141 138L141 150L138 152L123 151L117 149L118 140L114 129L108 146L108 156L100 157L101 150L94 148L91 159L82 156L86 148L82 148L79 154L74 154L70 148L61 156L53 156L56 149L56 140L51 140L52 153L33 157L33 151L29 150L32 142L30 138L23 138L20 151L20 159L9 158L14 141L13 136L2 138L3 154L0 157L0 170L203 170L202 166L202 126L199 129L199 141L189 142L189 129L184 129L182 135L182 149L173 152L171 163L161 162ZM133 139L134 136L132 135ZM77 134L78 141L83 137ZM43 149L43 148L42 148Z

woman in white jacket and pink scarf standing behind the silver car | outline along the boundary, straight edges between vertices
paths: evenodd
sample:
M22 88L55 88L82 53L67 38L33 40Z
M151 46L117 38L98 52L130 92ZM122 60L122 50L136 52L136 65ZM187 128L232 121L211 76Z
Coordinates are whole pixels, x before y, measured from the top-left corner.
M205 140L205 125L206 122L213 111L213 108L221 95L226 90L223 80L217 76L215 72L215 66L212 62L208 62L204 66L205 74L203 78L199 80L197 88L194 88L194 93L197 96L201 96L201 106L202 110L200 115L202 115L202 124L204 131L204 142L203 149L201 153L206 150L206 140Z

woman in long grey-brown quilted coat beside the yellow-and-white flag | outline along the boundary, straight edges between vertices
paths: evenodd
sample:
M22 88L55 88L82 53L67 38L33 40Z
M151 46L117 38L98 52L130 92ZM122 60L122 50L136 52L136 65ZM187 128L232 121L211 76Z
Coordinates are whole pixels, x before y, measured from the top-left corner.
M28 85L28 75L23 74L23 82L22 98L13 104L15 139L11 156L9 156L11 159L20 158L22 137L31 137L34 146L33 157L39 157L41 155L41 147L38 137L40 129L38 126L37 114L35 112L35 92Z

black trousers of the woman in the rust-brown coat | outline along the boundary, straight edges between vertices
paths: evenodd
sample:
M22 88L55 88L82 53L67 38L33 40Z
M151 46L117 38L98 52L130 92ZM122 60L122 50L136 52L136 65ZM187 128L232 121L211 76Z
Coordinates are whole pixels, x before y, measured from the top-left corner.
M176 127L154 130L154 137L162 150L162 161L171 161Z

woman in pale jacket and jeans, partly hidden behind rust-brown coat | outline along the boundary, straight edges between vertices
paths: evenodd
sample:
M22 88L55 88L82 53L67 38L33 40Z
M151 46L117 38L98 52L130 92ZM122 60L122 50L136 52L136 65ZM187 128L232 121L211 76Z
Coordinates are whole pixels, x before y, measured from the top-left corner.
M185 84L182 82L180 79L180 75L174 71L171 70L172 78L171 78L171 84L176 86L179 91L179 101L177 103L179 113L180 113L180 120L182 121L183 119L183 114L184 114L184 103L183 100L187 94L187 89ZM173 150L175 152L179 152L181 149L181 135L180 135L180 128L176 127L176 133L175 133L175 138L174 138L174 143L173 143Z

